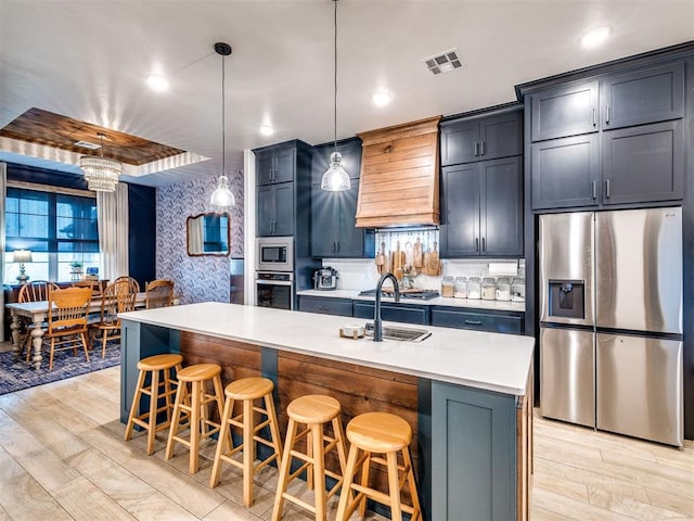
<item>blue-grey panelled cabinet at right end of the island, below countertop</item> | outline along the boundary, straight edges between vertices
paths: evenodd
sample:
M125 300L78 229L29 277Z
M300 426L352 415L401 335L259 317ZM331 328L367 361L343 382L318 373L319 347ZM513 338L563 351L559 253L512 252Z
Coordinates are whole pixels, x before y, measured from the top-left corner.
M432 519L529 519L530 403L432 381Z

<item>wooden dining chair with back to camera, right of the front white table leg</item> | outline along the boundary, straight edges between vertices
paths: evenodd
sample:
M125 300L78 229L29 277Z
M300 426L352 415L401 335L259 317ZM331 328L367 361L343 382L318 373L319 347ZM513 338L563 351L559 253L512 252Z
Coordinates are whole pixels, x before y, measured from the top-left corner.
M48 292L48 328L43 343L50 346L48 370L53 369L56 351L73 350L77 355L77 344L81 343L85 357L89 361L87 344L87 314L91 302L89 288L65 288Z

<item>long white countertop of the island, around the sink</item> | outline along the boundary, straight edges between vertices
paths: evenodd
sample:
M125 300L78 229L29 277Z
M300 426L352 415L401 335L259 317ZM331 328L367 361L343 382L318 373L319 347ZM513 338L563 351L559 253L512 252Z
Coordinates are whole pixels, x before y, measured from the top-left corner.
M433 326L422 342L373 342L339 336L339 328L365 320L267 307L206 302L123 313L125 320L391 370L523 396L535 339Z

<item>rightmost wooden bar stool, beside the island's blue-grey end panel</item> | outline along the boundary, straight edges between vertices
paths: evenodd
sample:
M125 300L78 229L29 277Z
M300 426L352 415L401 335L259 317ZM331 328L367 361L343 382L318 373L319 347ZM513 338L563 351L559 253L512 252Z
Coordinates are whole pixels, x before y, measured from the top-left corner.
M390 507L393 521L402 520L402 511L412 516L411 521L421 517L420 499L412 471L410 457L410 443L412 442L412 428L399 416L388 412L367 412L355 417L347 424L347 439L351 443L347 470L345 471L345 484L339 496L336 521L346 521L359 505L359 513L364 516L367 510L367 497ZM363 454L359 457L359 452ZM404 465L398 465L398 453L402 453ZM374 454L385 454L385 459ZM371 463L380 463L388 470L389 494L370 488L369 470ZM361 467L361 484L352 483L355 473ZM398 471L402 475L398 476ZM400 491L404 482L408 482L412 506L400 503ZM351 491L356 491L352 496Z

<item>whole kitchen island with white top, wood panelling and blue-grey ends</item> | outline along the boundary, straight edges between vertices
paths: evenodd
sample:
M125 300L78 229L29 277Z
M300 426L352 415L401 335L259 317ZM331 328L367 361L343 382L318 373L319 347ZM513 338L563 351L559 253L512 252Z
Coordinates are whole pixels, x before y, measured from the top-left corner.
M280 423L296 396L324 392L345 424L367 410L403 416L415 433L425 519L527 519L534 339L427 327L423 342L339 336L354 318L221 303L132 312L123 319L121 421L137 361L181 353L223 379L262 374Z

